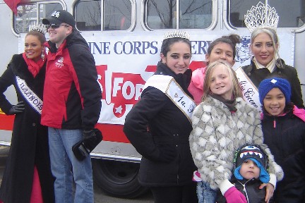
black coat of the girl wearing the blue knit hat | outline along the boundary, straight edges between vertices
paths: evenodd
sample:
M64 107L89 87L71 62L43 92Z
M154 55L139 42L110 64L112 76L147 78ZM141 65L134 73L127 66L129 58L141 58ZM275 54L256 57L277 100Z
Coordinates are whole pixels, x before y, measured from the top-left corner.
M262 128L264 143L284 171L275 189L275 202L305 202L305 122L291 112L285 116L264 114Z

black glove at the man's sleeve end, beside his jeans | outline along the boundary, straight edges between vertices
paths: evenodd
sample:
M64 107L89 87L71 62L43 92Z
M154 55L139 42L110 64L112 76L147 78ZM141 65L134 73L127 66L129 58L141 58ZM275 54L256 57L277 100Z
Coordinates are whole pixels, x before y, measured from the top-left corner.
M83 140L73 145L72 151L76 159L82 161L90 152L102 141L102 133L100 130L94 128L83 130Z

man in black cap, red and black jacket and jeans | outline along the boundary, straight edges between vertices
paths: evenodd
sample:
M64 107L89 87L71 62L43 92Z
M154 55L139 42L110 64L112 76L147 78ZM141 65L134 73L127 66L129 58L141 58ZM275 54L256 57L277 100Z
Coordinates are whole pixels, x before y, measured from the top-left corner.
M56 202L92 203L90 155L84 154L80 159L73 154L72 147L97 131L95 124L100 116L102 92L97 83L95 59L88 43L76 30L71 13L54 11L42 23L48 27L49 54L41 123L49 130L55 199Z

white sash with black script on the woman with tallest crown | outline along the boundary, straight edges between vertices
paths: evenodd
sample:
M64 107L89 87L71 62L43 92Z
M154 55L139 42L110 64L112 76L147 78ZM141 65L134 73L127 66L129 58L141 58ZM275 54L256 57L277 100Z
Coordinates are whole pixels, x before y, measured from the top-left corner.
M241 92L243 93L244 99L258 111L262 111L261 101L259 101L258 89L253 84L253 82L248 78L244 70L239 67L235 70L237 73L237 78L239 80L239 85L241 87Z

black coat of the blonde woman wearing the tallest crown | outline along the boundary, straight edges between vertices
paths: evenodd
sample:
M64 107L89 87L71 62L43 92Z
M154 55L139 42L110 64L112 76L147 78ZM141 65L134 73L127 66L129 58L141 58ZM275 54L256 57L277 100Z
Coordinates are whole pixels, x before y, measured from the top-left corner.
M258 87L262 80L266 78L271 78L273 76L280 75L282 78L285 78L289 81L292 88L292 97L291 101L298 106L299 108L304 108L302 94L301 94L301 85L299 82L299 77L297 75L297 70L292 66L285 64L285 61L282 61L282 67L275 67L275 71L270 73L268 68L257 69L253 60L249 66L243 66L244 73L250 78L253 84Z

